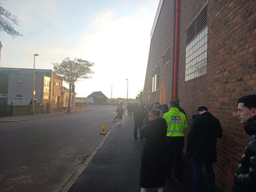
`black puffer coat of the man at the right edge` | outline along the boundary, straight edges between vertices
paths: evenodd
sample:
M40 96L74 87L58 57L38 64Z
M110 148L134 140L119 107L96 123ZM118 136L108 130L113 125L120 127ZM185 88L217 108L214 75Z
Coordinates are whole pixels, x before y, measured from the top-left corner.
M244 131L252 137L248 141L234 178L234 192L256 191L256 116L251 117Z

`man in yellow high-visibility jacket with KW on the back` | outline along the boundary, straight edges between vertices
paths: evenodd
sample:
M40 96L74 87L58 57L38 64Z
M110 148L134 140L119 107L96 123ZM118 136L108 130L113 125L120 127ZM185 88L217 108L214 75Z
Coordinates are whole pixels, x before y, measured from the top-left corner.
M169 103L169 112L163 115L168 128L166 134L166 179L171 179L174 161L175 179L182 175L182 149L184 146L184 131L188 128L187 117L180 112L175 101Z

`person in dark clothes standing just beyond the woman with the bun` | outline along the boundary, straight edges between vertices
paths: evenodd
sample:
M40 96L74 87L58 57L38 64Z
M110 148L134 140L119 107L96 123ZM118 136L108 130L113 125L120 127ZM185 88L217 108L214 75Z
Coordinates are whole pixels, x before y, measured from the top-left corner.
M134 110L133 112L133 119L134 119L134 131L133 131L133 137L134 137L134 140L138 140L137 138L137 133L138 133L138 127L139 129L142 128L143 126L143 119L144 117L146 116L145 114L145 109L143 108L143 105L140 103L138 105L138 108ZM140 140L141 141L144 141L144 138L142 135L140 135Z

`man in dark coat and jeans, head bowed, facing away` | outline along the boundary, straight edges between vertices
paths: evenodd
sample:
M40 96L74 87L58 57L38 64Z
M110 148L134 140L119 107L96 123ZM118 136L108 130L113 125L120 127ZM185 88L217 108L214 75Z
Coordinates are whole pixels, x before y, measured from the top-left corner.
M188 136L186 155L193 160L193 188L192 192L198 191L202 165L208 176L208 190L214 191L215 174L212 162L217 161L216 143L217 138L222 137L220 121L208 112L207 108L201 106L197 109Z

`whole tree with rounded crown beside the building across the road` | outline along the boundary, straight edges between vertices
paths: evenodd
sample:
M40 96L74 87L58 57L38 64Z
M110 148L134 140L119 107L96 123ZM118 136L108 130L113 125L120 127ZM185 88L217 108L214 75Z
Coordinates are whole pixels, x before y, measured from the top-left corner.
M78 79L92 78L91 76L87 75L94 73L90 69L90 67L94 66L94 63L78 58L70 60L69 57L66 57L61 63L52 63L52 65L54 72L61 76L63 80L69 84L67 112L70 112L71 86L74 85Z

